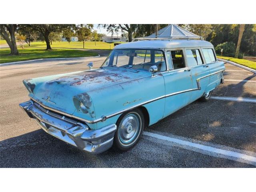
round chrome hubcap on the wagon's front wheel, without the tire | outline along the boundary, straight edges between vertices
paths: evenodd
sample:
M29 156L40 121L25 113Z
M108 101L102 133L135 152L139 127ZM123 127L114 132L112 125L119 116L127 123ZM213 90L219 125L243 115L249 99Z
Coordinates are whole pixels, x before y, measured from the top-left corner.
M139 135L141 120L136 113L130 113L123 118L118 128L118 138L124 145L132 144Z

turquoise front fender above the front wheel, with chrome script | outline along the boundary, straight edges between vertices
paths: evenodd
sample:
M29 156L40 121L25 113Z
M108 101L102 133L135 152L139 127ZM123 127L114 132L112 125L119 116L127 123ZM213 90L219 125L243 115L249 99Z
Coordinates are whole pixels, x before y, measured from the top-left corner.
M109 117L104 122L98 122L97 128L116 123L122 113L139 106L144 106L148 110L149 124L154 124L163 117L164 98L149 101L163 96L164 93L162 75L147 76L88 92L94 104L95 118Z

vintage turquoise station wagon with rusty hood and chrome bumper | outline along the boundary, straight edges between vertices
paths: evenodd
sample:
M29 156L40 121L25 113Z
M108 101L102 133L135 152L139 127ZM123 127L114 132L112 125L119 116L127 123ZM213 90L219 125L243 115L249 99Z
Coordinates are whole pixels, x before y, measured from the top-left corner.
M139 40L116 46L99 69L24 80L30 100L20 107L44 131L81 150L126 151L144 126L209 100L224 70L210 42Z

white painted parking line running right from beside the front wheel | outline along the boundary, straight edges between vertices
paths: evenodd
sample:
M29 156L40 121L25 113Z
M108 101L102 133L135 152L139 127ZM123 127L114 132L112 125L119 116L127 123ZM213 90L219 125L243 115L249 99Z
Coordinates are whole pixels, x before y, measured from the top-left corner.
M235 161L239 161L239 162L245 161L248 164L256 165L256 157L255 156L250 156L247 154L243 154L243 153L239 153L239 152L235 152L235 151L231 151L231 150L225 150L225 149L221 149L221 148L216 148L216 147L212 147L212 146L202 145L202 144L190 142L187 140L181 140L181 139L177 139L177 138L173 138L173 137L163 136L163 135L155 134L152 132L144 132L143 134L146 136L150 136L152 138L157 138L160 140L173 142L180 146L188 146L188 147L190 147L190 149L188 149L188 150L193 150L196 148L196 149L206 152L210 156L213 156L212 154L214 154L214 156L216 156L216 154L220 154L221 158L227 158L227 159L231 159L231 160L235 160ZM237 150L237 149L234 149L234 150ZM242 150L239 150L239 151L242 151Z

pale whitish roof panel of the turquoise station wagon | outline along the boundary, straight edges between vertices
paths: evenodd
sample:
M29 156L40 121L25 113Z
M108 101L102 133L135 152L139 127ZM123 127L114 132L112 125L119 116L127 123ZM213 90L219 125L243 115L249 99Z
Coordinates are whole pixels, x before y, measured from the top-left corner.
M142 40L129 43L122 43L114 47L114 49L126 48L186 48L186 47L213 47L208 41L203 40Z

